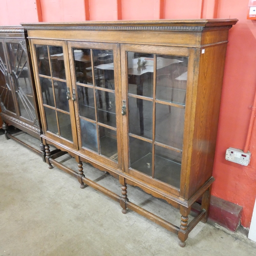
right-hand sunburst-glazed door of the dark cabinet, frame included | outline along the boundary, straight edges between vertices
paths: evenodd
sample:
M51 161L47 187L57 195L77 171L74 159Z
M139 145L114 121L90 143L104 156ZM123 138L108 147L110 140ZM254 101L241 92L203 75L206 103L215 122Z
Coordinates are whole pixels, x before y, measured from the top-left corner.
M6 39L9 70L18 105L19 119L39 126L35 111L35 95L25 39Z

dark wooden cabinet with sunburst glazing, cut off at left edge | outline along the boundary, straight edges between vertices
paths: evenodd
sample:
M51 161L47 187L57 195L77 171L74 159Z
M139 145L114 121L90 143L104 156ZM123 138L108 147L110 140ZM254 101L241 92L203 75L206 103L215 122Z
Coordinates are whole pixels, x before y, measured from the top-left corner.
M35 96L34 79L31 74L31 60L27 47L26 32L22 26L0 27L0 102L6 138L41 154L38 149L8 133L8 125L41 140L39 110ZM40 144L43 151L44 145Z

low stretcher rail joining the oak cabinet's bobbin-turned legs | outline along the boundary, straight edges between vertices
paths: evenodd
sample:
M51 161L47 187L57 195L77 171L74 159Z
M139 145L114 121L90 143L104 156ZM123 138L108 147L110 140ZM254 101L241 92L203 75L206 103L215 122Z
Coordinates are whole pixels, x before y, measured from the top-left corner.
M53 153L55 153L55 154L53 154ZM57 157L67 154L67 152L56 151L56 152L51 152L51 154L52 154L51 157L48 156L46 158L46 162L49 164L49 168L52 168L52 164L53 164L56 167L58 167L59 169L63 170L64 172L76 177L78 179L78 181L81 183L81 185L84 185L84 186L80 186L81 188L84 188L86 186L93 187L94 189L100 191L101 193L110 197L111 199L115 200L116 202L120 202L120 205L123 208L123 210L122 210L123 214L126 213L125 209L129 208L129 209L137 212L141 216L147 218L148 220L151 220L151 221L155 222L156 224L166 228L167 230L169 230L175 234L178 234L178 238L180 240L179 245L181 247L184 247L186 245L185 241L188 238L188 234L190 233L190 231L193 230L193 228L200 221L203 221L203 219L207 219L207 210L202 208L199 211L198 215L193 220L191 220L190 223L188 223L187 216L190 212L191 207L187 208L187 207L184 207L181 205L180 206L180 208L182 208L181 212L185 212L185 214L182 213L181 226L178 227L178 226L160 218L159 216L154 215L152 212L147 211L144 208L130 202L126 197L126 192L123 193L123 191L122 191L122 196L119 196L119 195L113 193L111 190L106 189L105 187L97 184L96 182L86 178L84 175L81 177L81 175L79 173L77 173L75 170L73 170L73 169L61 164L57 160L55 160ZM80 163L80 166L81 166L81 163ZM126 191L126 188L127 188L126 185L122 186L122 189L124 191ZM125 195L125 196L123 196L123 195Z

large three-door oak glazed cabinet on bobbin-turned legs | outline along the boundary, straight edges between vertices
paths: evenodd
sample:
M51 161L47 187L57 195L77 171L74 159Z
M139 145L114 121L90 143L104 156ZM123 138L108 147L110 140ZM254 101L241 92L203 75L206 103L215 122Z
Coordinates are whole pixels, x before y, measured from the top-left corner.
M23 24L52 164L178 234L206 221L228 30L237 19ZM78 162L73 170L49 145ZM61 155L61 153L59 154ZM120 196L83 173L109 172ZM128 200L126 184L180 210L180 227ZM198 215L188 222L191 205Z

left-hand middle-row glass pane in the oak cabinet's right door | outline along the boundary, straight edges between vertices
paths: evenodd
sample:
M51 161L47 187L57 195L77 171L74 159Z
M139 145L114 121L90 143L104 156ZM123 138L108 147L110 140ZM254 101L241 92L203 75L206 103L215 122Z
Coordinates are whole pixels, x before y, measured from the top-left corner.
M129 97L129 133L152 139L153 102Z

